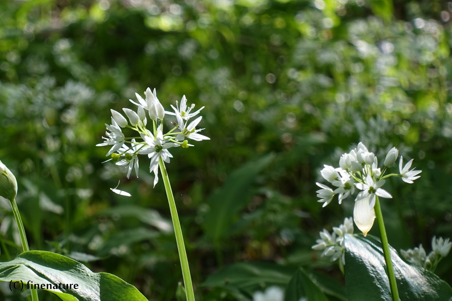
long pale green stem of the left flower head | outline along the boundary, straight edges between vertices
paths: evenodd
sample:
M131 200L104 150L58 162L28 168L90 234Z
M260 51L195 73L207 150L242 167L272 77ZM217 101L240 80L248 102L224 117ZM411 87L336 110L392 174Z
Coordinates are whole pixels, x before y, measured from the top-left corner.
M182 229L177 215L176 203L174 202L173 191L171 190L170 178L168 177L165 163L161 157L159 159L159 165L160 171L162 172L163 182L165 183L166 196L168 197L168 203L170 204L171 219L173 220L174 233L176 234L177 250L179 251L179 259L182 267L182 276L184 277L187 301L195 301L190 268L188 267L187 252L185 251L184 237L182 236Z

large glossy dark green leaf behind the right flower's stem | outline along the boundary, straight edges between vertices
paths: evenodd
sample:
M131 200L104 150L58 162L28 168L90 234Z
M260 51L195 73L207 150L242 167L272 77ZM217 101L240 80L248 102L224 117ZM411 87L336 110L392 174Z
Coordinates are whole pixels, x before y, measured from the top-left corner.
M452 288L437 275L406 264L390 246L400 300L449 300ZM345 236L345 283L350 301L392 301L381 242Z

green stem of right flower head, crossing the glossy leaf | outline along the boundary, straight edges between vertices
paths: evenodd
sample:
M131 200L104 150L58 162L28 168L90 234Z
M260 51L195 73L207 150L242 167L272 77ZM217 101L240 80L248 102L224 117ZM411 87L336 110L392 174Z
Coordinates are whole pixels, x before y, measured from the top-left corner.
M375 215L377 217L378 229L380 230L381 246L383 248L383 255L386 261L386 270L389 278L389 287L391 288L391 295L393 301L399 301L399 291L397 290L397 282L395 280L394 267L392 266L391 253L389 251L388 237L386 236L385 224L383 223L383 215L381 214L380 201L378 196L375 196Z

